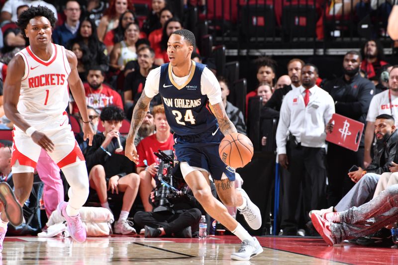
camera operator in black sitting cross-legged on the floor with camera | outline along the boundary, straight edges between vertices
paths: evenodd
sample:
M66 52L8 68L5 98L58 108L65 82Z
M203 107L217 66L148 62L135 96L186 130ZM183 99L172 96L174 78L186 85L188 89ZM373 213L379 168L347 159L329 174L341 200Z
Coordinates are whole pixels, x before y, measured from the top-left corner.
M176 175L181 175L179 167L175 170ZM195 199L192 190L180 176L177 179L177 184L180 191L173 191L167 195L167 200L170 203L170 209L166 211L157 211L159 202L162 198L157 195L161 185L158 185L150 194L150 202L154 207L152 212L139 211L134 215L136 225L145 228L145 237L161 237L164 235L174 236L179 238L192 238L192 232L198 231L199 220L205 211ZM215 196L214 183L210 181L211 192ZM192 229L191 229L192 228ZM208 226L209 228L209 226ZM208 231L208 230L207 230Z

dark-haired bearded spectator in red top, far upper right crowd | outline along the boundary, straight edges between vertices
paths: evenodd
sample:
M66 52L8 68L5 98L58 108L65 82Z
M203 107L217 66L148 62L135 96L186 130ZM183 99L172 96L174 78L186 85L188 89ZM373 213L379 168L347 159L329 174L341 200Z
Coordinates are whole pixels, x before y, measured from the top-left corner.
M361 56L363 61L361 63L361 70L367 75L369 80L379 80L377 73L379 69L387 65L384 61L383 45L379 40L368 40L361 48Z

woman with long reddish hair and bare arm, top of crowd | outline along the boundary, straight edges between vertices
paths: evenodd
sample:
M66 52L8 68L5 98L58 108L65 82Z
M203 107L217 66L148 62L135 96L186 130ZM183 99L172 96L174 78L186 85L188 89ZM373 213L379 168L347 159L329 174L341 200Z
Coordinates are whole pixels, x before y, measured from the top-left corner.
M103 13L97 29L98 39L100 41L103 41L106 32L117 28L120 15L127 10L134 11L132 0L111 0L109 2L109 7Z

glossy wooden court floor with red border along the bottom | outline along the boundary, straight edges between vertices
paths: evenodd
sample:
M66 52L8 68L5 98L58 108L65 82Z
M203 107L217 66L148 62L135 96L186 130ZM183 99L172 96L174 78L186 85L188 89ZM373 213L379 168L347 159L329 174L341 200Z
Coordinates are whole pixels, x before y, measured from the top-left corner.
M251 261L231 261L239 248L234 236L199 239L145 239L142 236L70 238L6 237L1 264L398 264L398 250L350 244L328 247L322 239L258 237L264 252Z

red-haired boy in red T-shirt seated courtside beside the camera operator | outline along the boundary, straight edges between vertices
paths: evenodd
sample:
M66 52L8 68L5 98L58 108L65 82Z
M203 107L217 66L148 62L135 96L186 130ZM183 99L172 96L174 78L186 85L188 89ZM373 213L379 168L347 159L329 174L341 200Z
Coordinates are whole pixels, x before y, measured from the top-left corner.
M174 149L173 134L170 132L170 126L167 123L165 108L163 105L153 107L152 113L154 115L156 133L141 140L137 146L137 154L139 156L139 163L137 165L137 173L140 176L140 197L145 211L152 211L152 205L148 201L149 194L154 188L155 179L153 178L157 173L156 156L154 152L158 150L172 150ZM144 162L146 160L146 163ZM148 166L146 166L148 165Z

